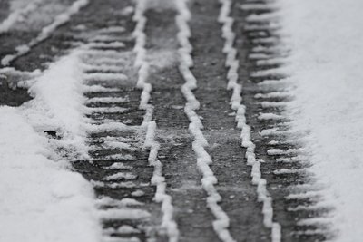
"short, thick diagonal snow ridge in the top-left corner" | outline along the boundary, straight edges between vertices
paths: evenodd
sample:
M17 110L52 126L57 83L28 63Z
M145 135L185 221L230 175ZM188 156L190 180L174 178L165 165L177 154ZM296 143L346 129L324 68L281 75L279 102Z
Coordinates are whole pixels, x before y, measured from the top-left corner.
M34 11L44 0L34 0L25 5L24 8L16 9L13 13L7 16L5 20L0 23L0 34L6 33L10 30L13 24L22 19L25 15Z

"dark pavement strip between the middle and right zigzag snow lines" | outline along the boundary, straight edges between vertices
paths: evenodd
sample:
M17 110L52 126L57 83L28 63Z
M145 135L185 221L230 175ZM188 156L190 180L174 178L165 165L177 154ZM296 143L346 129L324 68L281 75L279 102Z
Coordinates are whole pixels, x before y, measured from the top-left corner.
M223 9L226 10L225 5L221 7L224 21L224 18L228 17L228 11L227 13L223 11ZM201 100L201 108L198 113L203 117L204 134L211 144L208 150L213 160L211 169L219 181L215 187L223 198L221 208L231 218L230 229L234 237L243 237L252 241L268 241L271 233L264 228L263 222L265 221L269 228L273 225L269 220L269 218L271 219L270 204L268 204L270 198L266 197L266 192L263 193L261 185L258 189L259 196L257 196L256 188L250 184L251 169L243 160L245 150L240 148L240 131L235 128L235 119L240 121L238 116L240 102L231 101L233 91L225 89L227 85L225 77L228 75L231 80L231 76L233 76L235 81L229 82L228 86L230 90L235 88L234 98L236 94L239 95L238 75L233 73L237 70L236 67L239 67L239 62L233 59L235 55L231 53L227 62L230 65L227 67L232 65L234 68L226 70L221 62L225 58L224 53L229 53L231 50L234 40L228 39L225 44L225 40L221 37L221 30L225 30L223 35L230 38L231 33L226 35L226 31L228 32L228 27L232 22L227 26L221 26L217 22L218 15L220 15L218 1L214 3L195 1L191 5L191 12L193 14L190 23L193 34L191 44L193 45L193 60L195 60L193 73L199 80L195 95L198 100ZM222 53L222 49L224 49L224 53ZM230 107L230 102L233 103L232 107ZM236 111L237 117L235 117ZM259 179L254 178L254 181L258 182ZM258 199L261 202L265 201L263 209L263 214L267 214L265 219L261 214L262 206L257 203ZM278 225L274 225L274 227L278 227ZM279 233L276 233L275 228L273 237L274 241L278 241Z

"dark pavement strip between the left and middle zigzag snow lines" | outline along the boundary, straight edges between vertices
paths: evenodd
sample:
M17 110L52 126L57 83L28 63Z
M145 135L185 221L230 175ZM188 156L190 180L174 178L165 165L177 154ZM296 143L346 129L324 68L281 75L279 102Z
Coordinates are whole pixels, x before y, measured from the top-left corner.
M189 121L183 111L185 101L181 87L184 80L177 63L175 6L151 6L145 14L149 20L145 32L149 40L147 59L151 63L151 102L159 127L156 139L161 144L159 159L168 185L167 193L172 196L180 241L219 241L211 225L213 217L205 206L201 174L191 150Z

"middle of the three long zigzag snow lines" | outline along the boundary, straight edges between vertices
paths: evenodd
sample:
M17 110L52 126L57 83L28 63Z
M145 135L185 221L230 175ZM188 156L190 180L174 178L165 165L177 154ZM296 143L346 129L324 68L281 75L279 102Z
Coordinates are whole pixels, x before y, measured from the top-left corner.
M205 140L203 133L201 132L201 129L203 128L201 119L195 112L200 108L200 102L198 102L192 92L192 90L197 87L197 80L190 70L190 67L193 64L191 57L192 46L189 42L191 30L188 24L191 18L191 12L187 6L187 0L175 1L175 4L178 11L178 15L175 19L175 22L179 28L177 37L179 44L181 45L179 49L179 70L180 73L182 73L183 79L185 80L185 83L182 85L182 94L187 101L184 111L188 116L188 119L191 121L189 125L189 131L194 138L194 141L192 142L192 149L197 155L197 164L202 173L202 187L208 194L207 206L211 209L211 213L216 218L212 223L214 231L222 241L233 242L235 240L231 237L231 233L228 229L228 227L230 227L230 218L228 218L227 214L218 204L221 201L221 195L214 187L218 180L214 176L209 166L212 160L210 155L205 150L205 147L208 146L208 142Z

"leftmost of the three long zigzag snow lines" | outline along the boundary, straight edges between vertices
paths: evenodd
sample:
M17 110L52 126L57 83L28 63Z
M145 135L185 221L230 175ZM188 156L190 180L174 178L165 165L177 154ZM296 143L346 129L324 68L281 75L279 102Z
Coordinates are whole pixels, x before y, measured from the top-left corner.
M141 101L139 108L145 111L142 126L146 128L145 148L150 149L149 164L154 168L152 174L152 185L156 186L155 201L162 203L162 225L166 230L169 242L177 242L179 240L179 229L173 218L174 208L172 206L172 197L166 194L165 178L162 176L162 162L158 160L158 151L160 144L155 140L156 122L152 121L153 106L149 103L152 91L152 84L146 80L149 75L149 63L146 61L146 34L145 25L147 18L145 17L147 0L137 0L133 20L136 22L133 36L135 38L135 46L133 51L136 53L135 67L138 68L138 81L136 86L142 89Z

